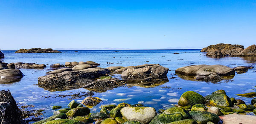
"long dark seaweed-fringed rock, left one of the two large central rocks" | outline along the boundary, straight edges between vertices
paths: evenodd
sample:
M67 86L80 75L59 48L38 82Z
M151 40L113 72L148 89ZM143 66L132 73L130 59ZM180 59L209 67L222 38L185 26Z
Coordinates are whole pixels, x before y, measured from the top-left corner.
M64 71L62 73L38 77L38 85L47 90L70 90L81 88L84 85L94 82L96 78L105 76L106 73L110 72L104 68Z

